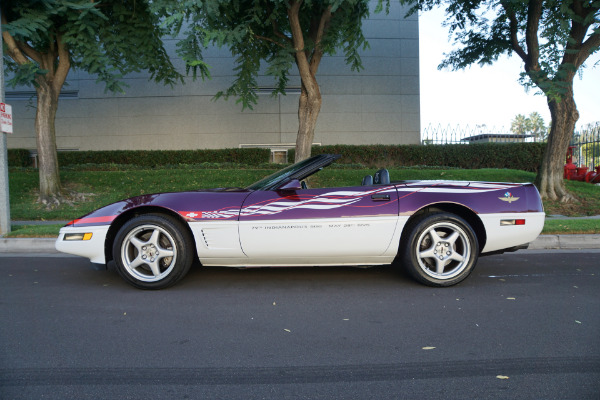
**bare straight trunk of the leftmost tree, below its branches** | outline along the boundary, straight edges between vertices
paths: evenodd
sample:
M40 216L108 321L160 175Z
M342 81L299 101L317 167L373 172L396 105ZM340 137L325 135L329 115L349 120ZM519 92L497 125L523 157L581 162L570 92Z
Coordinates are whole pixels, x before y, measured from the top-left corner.
M54 121L58 108L58 93L43 78L37 79L37 112L35 132L37 135L40 198L44 204L58 204L62 199L62 188L56 154Z

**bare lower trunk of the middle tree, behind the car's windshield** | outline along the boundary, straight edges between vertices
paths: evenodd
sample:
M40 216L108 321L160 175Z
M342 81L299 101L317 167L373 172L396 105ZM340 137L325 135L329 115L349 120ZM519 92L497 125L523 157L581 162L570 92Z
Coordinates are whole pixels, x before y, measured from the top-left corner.
M315 127L317 126L317 118L321 111L322 99L316 80L313 86L316 88L316 90L313 90L314 93L306 90L304 84L302 85L302 91L300 93L295 162L310 157L312 143L315 137Z

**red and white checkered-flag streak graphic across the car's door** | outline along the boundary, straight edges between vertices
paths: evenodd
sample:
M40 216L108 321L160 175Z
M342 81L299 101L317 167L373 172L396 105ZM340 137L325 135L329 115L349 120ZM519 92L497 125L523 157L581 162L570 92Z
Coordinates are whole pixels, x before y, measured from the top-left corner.
M318 196L311 195L293 195L281 197L278 199L269 199L260 203L248 205L241 210L237 208L228 208L214 211L180 211L184 217L193 219L229 219L241 217L252 217L261 215L275 215L284 211L295 209L311 209L311 210L331 210L334 208L346 207L353 205L366 196L375 193L395 192L393 186L386 186L368 191L349 191L342 190L336 192L323 193ZM389 203L388 203L389 204ZM380 204L378 205L380 206ZM361 207L361 206L355 206ZM374 206L376 207L376 206ZM196 216L193 216L196 214Z

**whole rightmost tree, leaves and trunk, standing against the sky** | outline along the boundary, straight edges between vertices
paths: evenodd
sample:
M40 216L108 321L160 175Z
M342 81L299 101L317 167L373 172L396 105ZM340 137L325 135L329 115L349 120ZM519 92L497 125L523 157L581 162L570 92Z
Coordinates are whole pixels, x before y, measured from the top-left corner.
M401 0L412 12L445 7L457 48L440 68L493 64L518 56L521 82L539 89L552 117L547 150L536 183L543 197L568 201L562 165L579 113L573 79L600 47L598 0ZM492 77L490 77L492 79Z

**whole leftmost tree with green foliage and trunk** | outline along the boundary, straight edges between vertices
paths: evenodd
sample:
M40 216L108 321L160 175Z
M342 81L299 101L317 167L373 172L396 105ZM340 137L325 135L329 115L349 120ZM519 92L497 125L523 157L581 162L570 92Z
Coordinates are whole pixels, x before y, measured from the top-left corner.
M86 71L107 91L123 91L124 74L147 70L157 82L181 75L161 41L158 17L142 0L2 0L5 62L12 85L37 93L40 200L60 202L54 120L71 69Z

